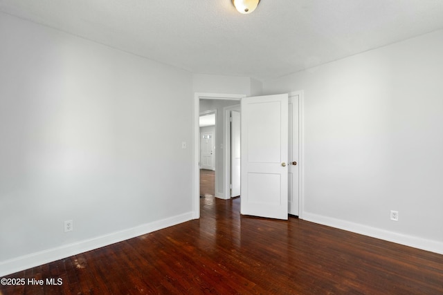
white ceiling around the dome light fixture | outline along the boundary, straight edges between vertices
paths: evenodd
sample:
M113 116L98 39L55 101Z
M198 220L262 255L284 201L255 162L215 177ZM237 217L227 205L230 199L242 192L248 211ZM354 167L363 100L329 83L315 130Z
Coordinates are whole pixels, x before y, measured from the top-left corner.
M443 28L442 0L0 0L0 10L192 73L256 79Z

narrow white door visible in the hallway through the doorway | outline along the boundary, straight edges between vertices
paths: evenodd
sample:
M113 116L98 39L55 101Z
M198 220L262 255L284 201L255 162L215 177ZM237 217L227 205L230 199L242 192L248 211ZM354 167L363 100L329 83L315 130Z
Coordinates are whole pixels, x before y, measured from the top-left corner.
M240 113L230 112L230 197L240 196Z

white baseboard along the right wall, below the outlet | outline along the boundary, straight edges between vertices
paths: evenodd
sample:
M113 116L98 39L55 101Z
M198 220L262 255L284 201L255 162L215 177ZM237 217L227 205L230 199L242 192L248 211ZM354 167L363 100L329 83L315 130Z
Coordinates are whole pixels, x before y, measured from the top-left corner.
M360 225L358 223L330 218L326 216L320 216L308 212L303 212L302 219L310 222L315 222L320 225L327 225L328 227L335 227L337 229L343 229L345 231L352 231L356 234L362 234L364 236L370 236L372 238L379 238L381 240L387 240L389 242L395 242L397 244L431 251L437 254L443 254L443 242L437 242L435 240L427 240L424 238L418 238L416 236L398 234L393 231L386 231L384 229L368 227L367 225Z

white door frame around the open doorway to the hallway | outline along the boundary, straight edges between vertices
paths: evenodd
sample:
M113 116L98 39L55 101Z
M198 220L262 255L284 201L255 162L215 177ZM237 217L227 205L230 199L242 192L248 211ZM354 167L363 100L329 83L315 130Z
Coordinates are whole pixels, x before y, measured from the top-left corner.
M194 153L193 153L193 162L194 165L192 167L192 218L198 219L200 218L200 169L199 169L199 157L200 157L200 126L199 126L199 117L200 117L200 99L224 99L224 100L240 100L243 97L246 97L244 94L225 94L225 93L195 93L194 94ZM224 124L224 138L226 138L226 123ZM226 151L228 148L226 146L226 140L224 142L224 157L226 159ZM226 168L226 167L225 167ZM225 175L224 175L225 177ZM215 180L217 183L217 180ZM224 180L224 183L226 180ZM216 184L217 185L217 184ZM226 185L225 185L226 186ZM226 196L226 191L224 191Z

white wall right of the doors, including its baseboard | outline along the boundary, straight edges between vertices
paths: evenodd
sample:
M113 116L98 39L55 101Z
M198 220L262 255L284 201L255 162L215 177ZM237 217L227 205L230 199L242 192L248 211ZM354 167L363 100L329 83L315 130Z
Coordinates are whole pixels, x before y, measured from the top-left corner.
M264 82L305 91L305 219L443 254L442 53L440 30Z

